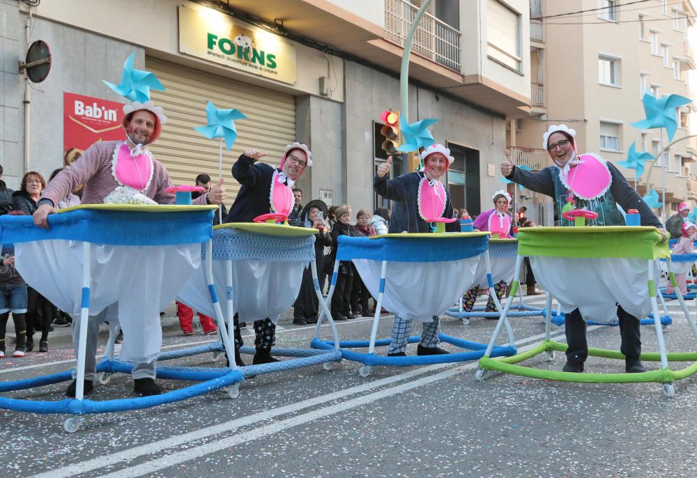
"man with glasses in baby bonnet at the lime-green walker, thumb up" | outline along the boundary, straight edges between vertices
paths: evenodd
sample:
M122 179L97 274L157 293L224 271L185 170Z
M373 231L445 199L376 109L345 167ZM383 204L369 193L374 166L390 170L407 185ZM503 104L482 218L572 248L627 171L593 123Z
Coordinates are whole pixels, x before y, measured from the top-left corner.
M661 229L661 222L613 164L592 153L581 157L576 155L575 136L576 131L567 128L567 125L551 125L544 133L542 146L549 153L554 166L536 173L524 171L515 167L510 153L506 151L501 173L529 190L553 197L563 226L571 226L572 222L564 219L562 212L584 208L598 214L595 219L597 226L624 226L625 219L617 207L619 204L625 211L638 210L641 225L656 227L664 241L668 240L668 233ZM589 225L593 225L592 222ZM625 355L625 371L643 372L645 369L639 360L639 320L619 305L617 316L622 337L620 351ZM588 343L585 339L585 322L578 308L565 315L565 332L569 348L563 371L582 372L583 363L588 358Z

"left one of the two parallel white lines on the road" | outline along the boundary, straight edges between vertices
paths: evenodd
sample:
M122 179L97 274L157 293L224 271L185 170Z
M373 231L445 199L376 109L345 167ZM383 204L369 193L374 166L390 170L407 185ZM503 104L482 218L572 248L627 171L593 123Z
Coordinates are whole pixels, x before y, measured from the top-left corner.
M588 329L594 330L595 328L598 328L598 327L599 326L596 325L594 327L588 327ZM561 334L553 334L552 335L552 337L560 337L560 336L561 336ZM541 339L543 337L544 337L544 334L535 335L534 337L526 337L525 339L521 339L520 341L516 341L516 345L526 344L530 341L537 342L539 339ZM530 347L531 346L527 346L527 347L521 349L521 351L527 350ZM252 425L252 424L259 422L259 421L262 421L262 420L268 420L270 418L285 415L287 413L294 413L294 412L297 412L297 411L302 410L304 408L317 406L317 405L320 405L321 403L326 403L328 401L334 401L337 399L345 398L346 396L351 396L354 394L367 392L368 390L372 390L372 389L378 388L378 387L383 387L385 385L390 385L391 383L399 382L401 380L409 380L415 376L420 376L424 373L429 373L431 371L436 371L439 369L443 369L445 367L452 367L452 365L453 364L437 364L437 365L431 365L428 367L422 367L419 369L407 371L404 373L399 373L398 375L395 375L395 376L383 378L381 380L374 380L372 382L365 383L363 385L357 385L355 387L351 387L351 388L348 388L345 390L339 390L338 392L332 392L330 394L325 394L322 396L314 397L312 399L307 399L307 400L299 401L296 403L291 403L289 405L274 408L272 410L265 410L261 413L255 413L254 415L247 415L246 417L233 419L229 422L225 422L222 424L208 426L204 429L199 429L199 430L192 431L189 433L183 433L181 435L176 435L176 436L173 436L170 438L165 438L164 440L158 440L156 442L148 443L147 445L141 445L139 447L125 449L121 452L116 452L114 454L100 456L98 458L93 458L91 460L84 461L81 463L75 463L73 465L68 465L68 466L63 467L63 468L56 468L56 470L51 470L48 472L40 473L38 475L34 475L33 478L68 478L68 477L72 477L73 475L78 475L80 473L92 472L93 470L99 470L100 468L105 468L107 466L116 465L118 463L123 463L125 461L132 461L132 460L135 460L136 458L139 458L140 456L146 456L148 454L161 452L162 450L167 449L167 448L184 445L184 444L191 442L193 440L201 440L202 438L217 435L219 433L230 432L230 431L233 431L233 430L238 429L240 427L249 426L249 425ZM466 368L462 368L462 367L459 367L459 368L463 369L463 370L464 369L472 369L472 368L477 367L477 363L473 362L470 364L466 364L464 367L466 367ZM443 377L443 378L445 378L445 377ZM438 380L441 380L441 378L438 378ZM431 380L431 381L435 381L435 380ZM416 385L416 386L420 386L420 385ZM395 389L396 388L397 387L395 387ZM389 390L393 390L393 389L389 389ZM399 390L401 390L401 389L399 389ZM408 390L408 389L405 389L405 390ZM398 392L392 392L392 393L398 393ZM372 395L374 395L374 394L372 394ZM372 396L372 395L370 395L370 396ZM378 398L381 398L381 397L378 397ZM366 401L365 403L369 403L369 401ZM355 403L354 406L359 406L360 404L361 403ZM331 408L332 407L329 407L328 409L331 409ZM337 410L337 411L339 411L339 410ZM318 413L320 413L320 414L323 413L323 410L315 410L314 412L311 412L311 413L308 413L305 415L315 414L312 416L315 416L316 418L323 416L323 415L316 415ZM332 413L337 413L337 412L335 411ZM305 416L305 415L301 415L301 416ZM284 423L284 422L279 422L279 424L282 424L282 423ZM289 426L294 426L294 425L289 425ZM266 429L266 427L262 427L260 430L263 430L263 429ZM250 432L246 432L246 433L250 433ZM242 435L246 436L246 433L242 434ZM268 432L268 433L275 433L275 432ZM242 436L242 435L240 435L240 436ZM252 438L249 438L248 440L250 440L250 439L252 439ZM229 446L229 445L226 445L226 447L227 446ZM196 449L199 449L199 448L197 447ZM206 446L205 449L208 449L208 447ZM199 452L202 452L202 451L203 451L203 449L199 450ZM201 454L204 454L204 453L201 453ZM171 455L171 457L175 457L175 456L178 456L178 454ZM169 457L167 457L167 458L169 458ZM162 458L159 458L159 459L162 459ZM188 459L190 459L190 458L184 458L183 461L186 461ZM155 462L158 462L158 460L155 460L155 461L149 462L149 463L155 463ZM169 463L166 466L171 466L172 464L174 464L174 462ZM162 468L166 468L166 466L162 467ZM135 470L134 467L128 468L128 474L126 474L124 476L136 476L134 474L135 472L133 470ZM146 472L147 471L143 471L143 473L146 473Z

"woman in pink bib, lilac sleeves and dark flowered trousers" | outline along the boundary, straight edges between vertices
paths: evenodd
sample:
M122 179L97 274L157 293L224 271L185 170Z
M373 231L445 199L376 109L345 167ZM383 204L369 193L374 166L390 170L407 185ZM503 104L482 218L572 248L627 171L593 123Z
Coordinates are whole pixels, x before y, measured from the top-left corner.
M495 207L482 212L482 214L477 217L475 222L473 222L475 231L489 231L492 234L498 234L500 238L510 238L512 237L510 235L512 218L508 213L508 207L511 203L511 196L507 192L501 190L496 191L492 199ZM503 299L506 286L507 284L505 281L493 284L493 290L496 291L496 297L498 297L499 301ZM479 291L480 286L477 285L470 288L463 296L462 307L466 312L472 311ZM496 304L493 303L491 295L489 296L489 302L487 302L486 311L496 312Z

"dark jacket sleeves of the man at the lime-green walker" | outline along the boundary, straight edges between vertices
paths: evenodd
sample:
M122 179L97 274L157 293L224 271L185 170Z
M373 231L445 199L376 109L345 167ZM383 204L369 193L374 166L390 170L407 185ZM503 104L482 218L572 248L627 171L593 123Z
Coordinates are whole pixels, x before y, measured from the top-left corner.
M648 204L645 203L645 201L641 199L641 196L627 183L625 176L622 176L622 173L620 173L611 162L607 162L607 165L610 170L610 175L612 176L610 192L615 201L622 206L622 209L624 209L625 212L630 209L638 210L639 215L641 215L642 226L663 227ZM556 166L546 167L542 169L542 171L537 171L536 173L514 167L513 172L509 176L506 176L506 178L512 180L514 183L527 187L530 191L539 192L540 194L551 196L554 199L554 179L552 175L559 174L558 171Z

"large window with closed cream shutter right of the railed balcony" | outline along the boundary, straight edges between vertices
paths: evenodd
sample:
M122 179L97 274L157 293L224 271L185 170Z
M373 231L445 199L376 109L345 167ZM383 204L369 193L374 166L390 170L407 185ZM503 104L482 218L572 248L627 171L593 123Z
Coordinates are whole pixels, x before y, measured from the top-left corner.
M489 0L487 10L487 55L521 71L521 15L498 0Z

